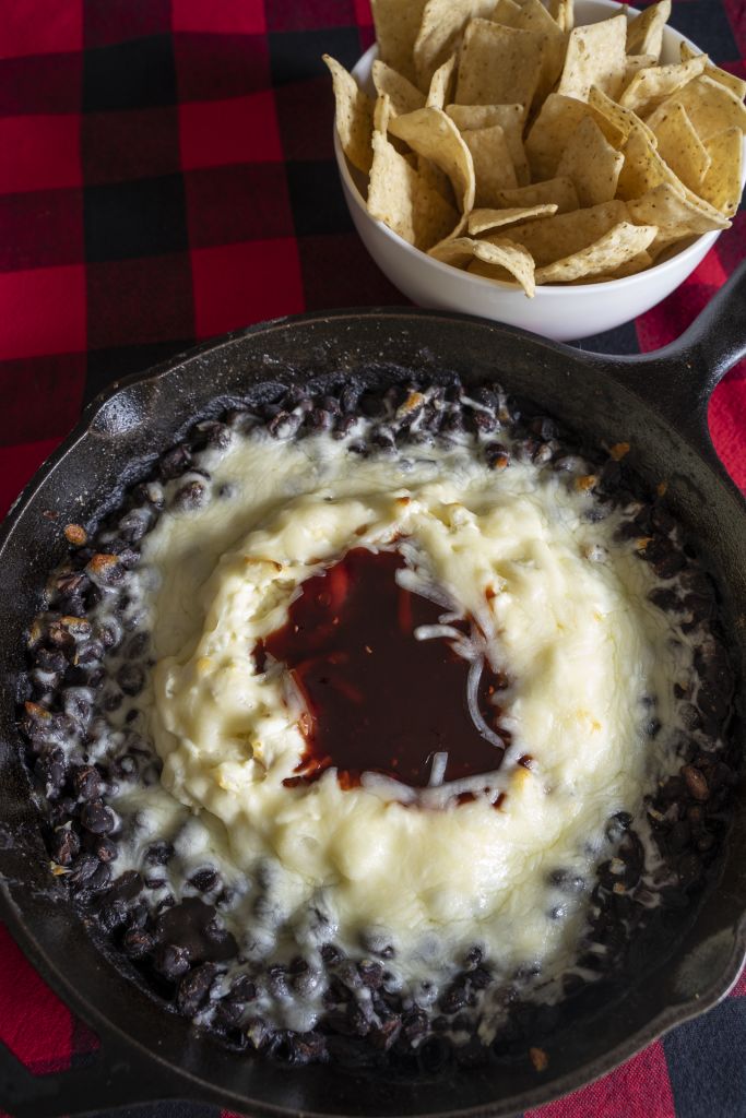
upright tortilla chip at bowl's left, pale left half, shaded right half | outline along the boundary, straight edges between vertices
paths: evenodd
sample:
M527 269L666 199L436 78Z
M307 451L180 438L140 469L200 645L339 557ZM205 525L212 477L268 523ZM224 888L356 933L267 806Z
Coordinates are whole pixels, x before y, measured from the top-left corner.
M407 160L376 132L368 212L416 248L427 250L456 225L459 215Z

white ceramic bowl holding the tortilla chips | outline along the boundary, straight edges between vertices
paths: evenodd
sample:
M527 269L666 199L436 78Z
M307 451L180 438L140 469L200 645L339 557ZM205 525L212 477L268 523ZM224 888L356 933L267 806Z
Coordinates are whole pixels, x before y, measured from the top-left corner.
M614 0L576 0L575 22L596 23L621 10ZM636 12L630 9L629 15L632 18ZM681 42L695 47L683 35L667 26L661 60L679 61ZM699 50L698 47L695 49ZM376 57L377 47L374 46L352 70L360 85L370 93L374 92L371 69ZM669 259L623 280L577 286L542 284L536 288L535 297L528 299L522 291L509 284L471 275L433 259L383 221L371 218L360 189L361 177L350 168L336 129L334 152L352 221L376 264L400 292L419 306L478 314L557 341L601 333L649 311L693 272L720 235L719 230L706 233L687 243Z

